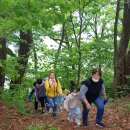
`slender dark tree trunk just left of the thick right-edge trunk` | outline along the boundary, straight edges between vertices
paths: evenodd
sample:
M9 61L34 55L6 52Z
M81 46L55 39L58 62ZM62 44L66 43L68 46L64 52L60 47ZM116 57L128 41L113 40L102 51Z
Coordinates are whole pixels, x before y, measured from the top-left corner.
M115 97L115 88L116 88L116 77L117 77L117 26L120 12L120 0L117 0L116 16L114 23L114 83L112 86L112 96Z

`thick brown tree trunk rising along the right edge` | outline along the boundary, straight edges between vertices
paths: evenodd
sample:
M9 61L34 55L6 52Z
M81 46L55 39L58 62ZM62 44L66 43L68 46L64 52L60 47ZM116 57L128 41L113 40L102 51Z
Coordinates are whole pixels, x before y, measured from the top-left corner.
M123 31L117 55L117 79L116 85L125 85L125 58L130 38L130 0L125 0L123 14Z

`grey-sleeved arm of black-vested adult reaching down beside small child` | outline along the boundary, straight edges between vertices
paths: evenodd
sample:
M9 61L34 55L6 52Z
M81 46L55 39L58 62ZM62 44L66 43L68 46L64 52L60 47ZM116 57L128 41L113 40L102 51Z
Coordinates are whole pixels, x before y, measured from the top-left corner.
M90 109L91 105L89 104L88 100L86 99L87 91L88 91L88 87L83 84L79 91L79 96L80 96L80 99L85 103L87 109Z

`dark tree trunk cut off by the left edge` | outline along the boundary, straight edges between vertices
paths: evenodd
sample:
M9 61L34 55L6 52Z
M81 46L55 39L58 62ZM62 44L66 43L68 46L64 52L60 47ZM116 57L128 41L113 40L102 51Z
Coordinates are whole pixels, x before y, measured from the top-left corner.
M5 82L6 53L6 40L4 38L0 38L0 87L3 87Z

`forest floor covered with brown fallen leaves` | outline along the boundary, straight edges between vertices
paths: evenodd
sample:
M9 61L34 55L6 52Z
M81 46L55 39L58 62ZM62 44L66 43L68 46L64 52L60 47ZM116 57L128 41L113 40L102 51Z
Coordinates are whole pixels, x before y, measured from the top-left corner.
M130 97L125 100L118 100L108 103L105 106L105 114L103 122L106 125L104 130L130 130ZM41 114L40 110L33 110L31 103L27 103L26 107L32 111L32 114L20 115L15 108L8 108L0 100L0 130L41 130L33 129L36 124L44 126L53 126L57 130L98 130L95 126L96 108L92 107L89 113L88 126L77 127L67 121L66 112L58 112L57 117L51 117L49 114ZM53 129L44 129L53 130Z

